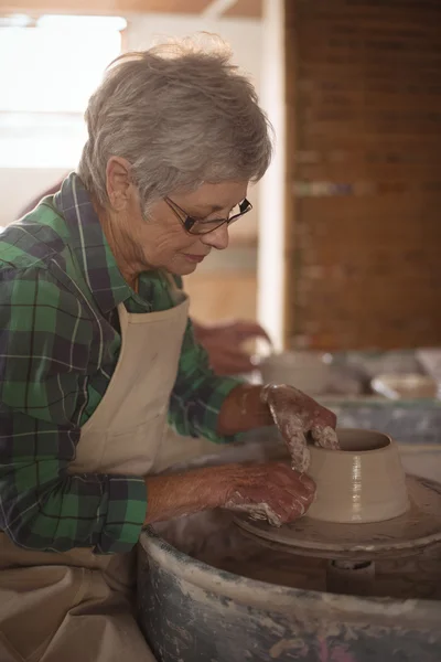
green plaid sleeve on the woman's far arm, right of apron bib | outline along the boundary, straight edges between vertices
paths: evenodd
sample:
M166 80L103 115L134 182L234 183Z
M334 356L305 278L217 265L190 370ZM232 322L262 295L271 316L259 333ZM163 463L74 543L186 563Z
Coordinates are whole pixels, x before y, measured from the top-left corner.
M187 322L176 382L170 399L169 421L180 435L205 437L215 444L228 444L236 436L216 434L217 419L227 395L241 380L219 377L208 363L208 354Z

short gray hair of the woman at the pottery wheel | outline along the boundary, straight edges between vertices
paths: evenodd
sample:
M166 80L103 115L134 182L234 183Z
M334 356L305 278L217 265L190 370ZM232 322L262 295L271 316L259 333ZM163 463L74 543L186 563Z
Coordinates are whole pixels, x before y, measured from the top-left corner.
M107 206L106 167L127 159L148 206L204 182L258 181L271 160L271 127L256 90L218 38L126 53L108 67L85 114L78 174Z

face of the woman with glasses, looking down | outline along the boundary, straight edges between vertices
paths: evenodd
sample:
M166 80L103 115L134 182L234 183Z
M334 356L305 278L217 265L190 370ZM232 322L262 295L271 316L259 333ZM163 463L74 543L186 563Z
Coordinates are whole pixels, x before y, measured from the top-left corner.
M172 206L165 200L154 203L146 218L138 192L129 185L115 218L125 244L125 261L137 271L163 268L180 276L192 274L212 248L228 246L228 225L204 235L190 234L182 223L185 214L197 221L227 218L246 197L247 186L248 182L205 183L195 191L171 194Z

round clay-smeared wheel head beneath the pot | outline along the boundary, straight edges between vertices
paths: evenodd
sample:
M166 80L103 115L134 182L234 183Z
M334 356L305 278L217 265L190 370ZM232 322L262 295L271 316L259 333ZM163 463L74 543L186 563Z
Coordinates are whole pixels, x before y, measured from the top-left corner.
M270 547L303 556L373 560L409 556L441 542L441 484L415 476L406 481L410 509L394 520L336 524L305 515L277 528L240 514L235 523Z

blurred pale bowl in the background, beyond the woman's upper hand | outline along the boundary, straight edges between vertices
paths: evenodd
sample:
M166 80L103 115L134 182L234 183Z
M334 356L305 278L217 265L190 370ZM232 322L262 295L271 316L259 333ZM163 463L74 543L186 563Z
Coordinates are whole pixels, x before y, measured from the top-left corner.
M310 395L325 393L331 367L324 363L323 354L316 352L282 352L259 361L265 384L290 384Z

